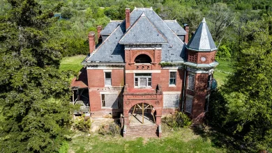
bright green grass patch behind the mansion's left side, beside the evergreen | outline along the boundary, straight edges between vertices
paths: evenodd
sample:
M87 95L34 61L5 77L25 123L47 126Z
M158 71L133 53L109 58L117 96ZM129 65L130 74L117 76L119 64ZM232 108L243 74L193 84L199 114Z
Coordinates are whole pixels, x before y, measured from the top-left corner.
M79 72L80 69L83 67L81 63L84 58L86 58L85 55L65 57L61 60L61 66L59 67L59 70L73 70L75 72Z

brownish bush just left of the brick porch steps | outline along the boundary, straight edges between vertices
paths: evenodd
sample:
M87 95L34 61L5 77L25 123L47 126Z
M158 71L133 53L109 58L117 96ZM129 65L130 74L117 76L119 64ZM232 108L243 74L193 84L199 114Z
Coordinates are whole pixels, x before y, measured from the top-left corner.
M116 136L121 134L121 128L119 124L112 122L110 124L105 124L102 127L100 127L98 133L103 135L108 134L110 136Z

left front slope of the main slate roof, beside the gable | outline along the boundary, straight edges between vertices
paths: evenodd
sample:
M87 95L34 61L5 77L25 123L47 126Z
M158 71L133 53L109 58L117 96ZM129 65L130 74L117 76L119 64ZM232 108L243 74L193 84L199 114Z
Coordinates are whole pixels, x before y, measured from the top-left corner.
M93 54L87 59L87 62L101 63L123 63L124 62L124 46L118 42L126 32L126 23L122 22L109 37L101 43L101 45L93 51Z

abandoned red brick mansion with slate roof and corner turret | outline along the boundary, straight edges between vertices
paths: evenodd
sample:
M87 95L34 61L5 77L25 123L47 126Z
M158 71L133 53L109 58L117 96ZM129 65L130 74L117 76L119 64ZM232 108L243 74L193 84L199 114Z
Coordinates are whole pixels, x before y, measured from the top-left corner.
M184 27L152 8L135 8L126 9L123 21L98 26L97 45L90 32L90 54L72 86L78 95L86 89L92 118L121 118L123 136L145 126L160 137L162 116L175 111L201 122L215 83L217 48L205 19L190 41Z

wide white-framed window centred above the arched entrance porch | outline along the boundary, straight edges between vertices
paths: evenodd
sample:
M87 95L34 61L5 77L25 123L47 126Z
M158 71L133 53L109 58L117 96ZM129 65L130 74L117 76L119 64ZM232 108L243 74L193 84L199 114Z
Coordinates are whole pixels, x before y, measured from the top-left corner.
M134 86L136 88L151 87L151 73L135 73Z

